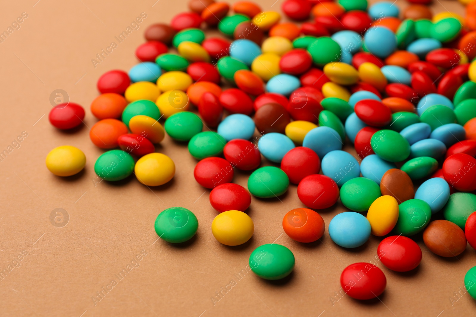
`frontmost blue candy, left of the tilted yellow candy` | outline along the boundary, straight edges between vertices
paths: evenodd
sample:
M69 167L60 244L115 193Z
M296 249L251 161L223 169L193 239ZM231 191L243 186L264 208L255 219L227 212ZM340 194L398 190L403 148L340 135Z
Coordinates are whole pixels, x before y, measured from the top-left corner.
M357 248L370 237L370 222L362 214L347 211L337 214L329 222L332 241L344 248Z

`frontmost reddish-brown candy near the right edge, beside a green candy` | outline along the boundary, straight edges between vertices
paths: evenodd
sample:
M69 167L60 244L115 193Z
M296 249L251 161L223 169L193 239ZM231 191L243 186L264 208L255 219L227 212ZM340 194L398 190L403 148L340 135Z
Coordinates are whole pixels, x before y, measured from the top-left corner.
M466 249L465 232L447 220L431 221L423 232L423 242L430 251L446 258L456 257Z

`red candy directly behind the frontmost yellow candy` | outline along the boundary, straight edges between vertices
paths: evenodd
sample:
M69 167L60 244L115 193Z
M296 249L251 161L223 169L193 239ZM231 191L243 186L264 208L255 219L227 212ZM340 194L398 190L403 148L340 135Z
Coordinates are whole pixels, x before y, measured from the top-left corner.
M225 183L218 185L210 192L210 204L218 212L239 210L245 211L251 204L251 195L238 184Z

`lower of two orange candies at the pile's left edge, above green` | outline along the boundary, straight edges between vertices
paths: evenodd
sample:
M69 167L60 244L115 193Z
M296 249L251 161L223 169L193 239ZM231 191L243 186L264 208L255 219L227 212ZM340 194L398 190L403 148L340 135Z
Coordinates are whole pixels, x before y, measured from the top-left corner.
M127 126L117 119L103 119L92 126L89 138L101 149L118 147L118 137L127 134Z

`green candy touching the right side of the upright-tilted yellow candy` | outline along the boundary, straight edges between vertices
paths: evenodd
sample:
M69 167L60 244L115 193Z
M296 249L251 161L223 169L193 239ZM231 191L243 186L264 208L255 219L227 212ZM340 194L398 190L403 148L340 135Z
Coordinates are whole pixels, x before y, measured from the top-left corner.
M425 229L431 219L431 208L421 199L409 199L398 205L398 220L393 233L406 237Z

